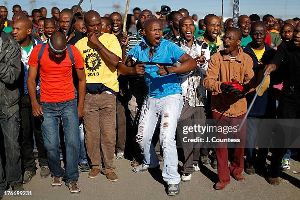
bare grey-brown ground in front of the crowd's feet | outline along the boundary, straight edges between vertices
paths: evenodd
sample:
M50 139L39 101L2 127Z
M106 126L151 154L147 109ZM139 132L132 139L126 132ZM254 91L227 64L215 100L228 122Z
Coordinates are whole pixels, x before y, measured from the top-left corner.
M180 182L180 194L166 195L165 183L161 170L136 174L132 172L129 160L116 160L117 182L110 182L104 175L94 179L88 173L80 173L78 185L81 192L70 194L68 188L51 187L51 177L41 179L40 169L32 181L24 184L25 191L32 191L32 196L8 197L3 200L299 200L300 199L300 162L291 160L291 169L280 175L280 185L272 186L259 175L247 175L245 182L238 182L231 177L230 184L223 191L214 190L218 181L217 170L210 165L200 165L200 172L192 174L189 182ZM179 164L181 164L179 162ZM162 169L162 164L160 166ZM9 189L8 191L11 191Z

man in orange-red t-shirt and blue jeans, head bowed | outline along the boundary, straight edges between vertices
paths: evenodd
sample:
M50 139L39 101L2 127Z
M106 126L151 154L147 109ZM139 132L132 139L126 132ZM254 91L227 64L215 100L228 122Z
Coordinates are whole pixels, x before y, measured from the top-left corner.
M39 52L44 52L39 60ZM61 32L54 33L47 44L37 45L28 60L29 72L27 87L34 117L42 118L44 146L47 150L49 167L53 180L51 185L62 185L62 178L72 194L80 192L78 188L79 157L79 118L83 115L86 90L84 63L79 51L67 45L66 37ZM73 61L72 61L73 60ZM74 63L73 63L74 62ZM79 79L78 106L75 99L75 87L72 67L76 69ZM36 100L36 76L40 74L41 105ZM59 122L62 120L66 143L65 170L60 166L59 158Z

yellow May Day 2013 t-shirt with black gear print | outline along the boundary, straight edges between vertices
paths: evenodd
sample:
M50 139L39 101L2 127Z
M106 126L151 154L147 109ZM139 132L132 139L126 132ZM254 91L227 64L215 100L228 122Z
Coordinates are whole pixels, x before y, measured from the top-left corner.
M115 35L102 33L99 40L106 49L116 54L120 61L122 60L121 46ZM85 63L86 83L102 83L113 91L119 92L117 69L101 58L96 46L84 37L75 44L75 47Z

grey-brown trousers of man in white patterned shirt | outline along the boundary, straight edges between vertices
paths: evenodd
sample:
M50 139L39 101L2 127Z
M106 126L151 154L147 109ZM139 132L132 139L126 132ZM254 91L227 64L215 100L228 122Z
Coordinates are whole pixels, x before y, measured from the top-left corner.
M200 146L199 144L191 143L191 142L182 142L183 137L186 135L183 134L184 126L194 126L194 125L205 125L205 112L204 107L196 106L192 107L185 101L184 106L182 108L180 118L177 124L177 136L182 143L183 153L184 153L184 162L181 172L190 173L194 172L193 164L197 164L200 156ZM189 133L191 134L191 133ZM195 132L189 135L189 138L199 137L200 134L196 134Z

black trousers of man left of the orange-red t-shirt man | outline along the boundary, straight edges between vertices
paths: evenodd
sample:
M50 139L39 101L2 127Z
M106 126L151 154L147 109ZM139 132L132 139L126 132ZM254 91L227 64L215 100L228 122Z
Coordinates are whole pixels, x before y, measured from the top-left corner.
M40 99L38 95L38 100ZM32 115L31 102L28 95L21 97L21 133L22 133L22 158L24 171L35 171L36 163L33 157L33 138L32 131L35 137L35 143L38 150L38 161L41 167L48 166L47 152L44 148L44 140L41 130L41 119L35 118Z

